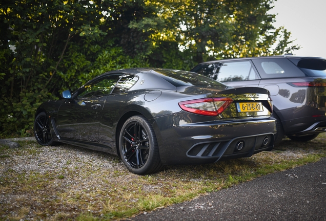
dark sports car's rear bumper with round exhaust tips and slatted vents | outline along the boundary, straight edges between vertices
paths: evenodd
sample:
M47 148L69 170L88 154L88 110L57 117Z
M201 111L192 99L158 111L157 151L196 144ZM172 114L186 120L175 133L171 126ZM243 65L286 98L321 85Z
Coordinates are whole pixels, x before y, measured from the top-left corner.
M183 120L180 115L168 115L156 118L152 123L155 132L159 131L156 137L161 162L165 165L204 164L250 157L274 147L276 127L273 118L197 123L184 123Z

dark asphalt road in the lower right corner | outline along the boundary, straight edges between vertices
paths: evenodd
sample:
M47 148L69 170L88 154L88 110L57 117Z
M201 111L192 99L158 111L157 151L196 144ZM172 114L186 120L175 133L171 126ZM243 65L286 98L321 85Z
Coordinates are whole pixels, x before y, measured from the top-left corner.
M131 220L326 220L326 159Z

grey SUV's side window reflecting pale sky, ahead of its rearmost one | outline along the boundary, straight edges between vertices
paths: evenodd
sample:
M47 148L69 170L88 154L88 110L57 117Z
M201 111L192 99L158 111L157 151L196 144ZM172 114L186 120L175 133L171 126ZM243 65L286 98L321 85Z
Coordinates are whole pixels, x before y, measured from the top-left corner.
M225 62L220 64L217 79L220 82L258 79L250 61Z

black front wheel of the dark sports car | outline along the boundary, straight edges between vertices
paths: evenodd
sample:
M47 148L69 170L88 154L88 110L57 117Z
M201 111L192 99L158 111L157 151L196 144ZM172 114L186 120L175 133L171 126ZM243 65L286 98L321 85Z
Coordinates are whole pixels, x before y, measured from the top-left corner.
M44 112L39 113L35 118L34 136L40 145L49 146L54 144L50 132L50 120Z

